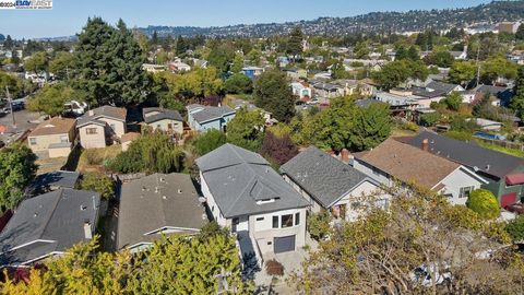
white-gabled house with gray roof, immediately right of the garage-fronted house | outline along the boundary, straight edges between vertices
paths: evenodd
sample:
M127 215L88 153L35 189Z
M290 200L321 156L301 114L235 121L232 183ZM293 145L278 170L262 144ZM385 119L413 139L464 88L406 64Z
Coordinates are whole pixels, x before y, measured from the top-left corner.
M313 145L289 160L281 172L313 213L324 209L335 219L350 221L359 215L357 209L366 199L388 206L389 196L378 181Z

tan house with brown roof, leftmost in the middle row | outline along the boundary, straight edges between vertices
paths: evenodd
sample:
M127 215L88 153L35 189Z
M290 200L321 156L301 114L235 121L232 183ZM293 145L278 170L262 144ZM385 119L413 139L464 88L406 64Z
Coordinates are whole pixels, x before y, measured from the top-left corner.
M29 149L37 155L68 156L76 138L74 119L53 117L40 122L28 135Z

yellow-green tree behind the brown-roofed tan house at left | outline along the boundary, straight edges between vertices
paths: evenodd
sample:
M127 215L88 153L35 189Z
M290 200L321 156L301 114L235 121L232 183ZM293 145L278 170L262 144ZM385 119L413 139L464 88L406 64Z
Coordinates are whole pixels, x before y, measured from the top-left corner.
M26 107L55 117L63 113L66 102L75 98L76 92L71 86L64 83L49 84L28 99Z

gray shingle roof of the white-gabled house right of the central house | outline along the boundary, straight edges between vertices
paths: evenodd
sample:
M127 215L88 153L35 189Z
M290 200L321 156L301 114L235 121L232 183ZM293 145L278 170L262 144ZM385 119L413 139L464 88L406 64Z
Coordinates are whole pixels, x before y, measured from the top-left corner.
M313 145L289 160L281 172L324 208L332 206L364 180L374 184L361 172Z

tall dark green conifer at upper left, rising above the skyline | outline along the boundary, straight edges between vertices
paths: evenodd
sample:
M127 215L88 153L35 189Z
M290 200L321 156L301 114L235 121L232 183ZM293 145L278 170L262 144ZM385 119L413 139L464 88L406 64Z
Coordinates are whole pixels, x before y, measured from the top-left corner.
M111 27L99 17L88 19L75 50L74 87L92 105L126 106L143 102L150 80L142 70L144 56L131 31L120 20Z

